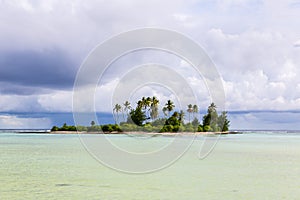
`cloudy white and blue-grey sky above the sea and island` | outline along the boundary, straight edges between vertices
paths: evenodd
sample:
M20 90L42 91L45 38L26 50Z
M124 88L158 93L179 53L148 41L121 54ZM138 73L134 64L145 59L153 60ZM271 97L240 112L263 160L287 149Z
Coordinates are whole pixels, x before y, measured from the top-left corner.
M0 129L72 121L66 113L72 112L74 80L89 53L143 27L180 32L205 50L222 78L232 128L300 129L299 19L300 0L0 0ZM99 86L99 111L111 111L108 97L120 66L186 65L146 51L122 59ZM201 78L192 72L185 78L207 96ZM162 88L137 93L172 97ZM203 98L200 109L208 103ZM53 113L65 118L58 122Z

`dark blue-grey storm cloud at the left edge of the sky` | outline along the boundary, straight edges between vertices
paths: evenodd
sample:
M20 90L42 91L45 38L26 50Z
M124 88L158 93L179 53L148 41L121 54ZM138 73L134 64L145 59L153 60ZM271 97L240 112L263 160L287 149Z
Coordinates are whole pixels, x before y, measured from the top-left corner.
M71 88L78 66L79 64L59 49L2 52L1 92L20 94L20 90L31 93L39 87Z

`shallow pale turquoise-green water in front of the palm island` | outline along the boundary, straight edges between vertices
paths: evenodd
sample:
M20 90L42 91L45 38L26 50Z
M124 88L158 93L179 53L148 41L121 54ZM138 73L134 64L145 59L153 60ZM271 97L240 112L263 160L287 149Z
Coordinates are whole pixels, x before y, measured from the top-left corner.
M0 199L299 199L300 133L222 136L199 160L202 142L168 168L132 175L100 164L77 135L1 133Z

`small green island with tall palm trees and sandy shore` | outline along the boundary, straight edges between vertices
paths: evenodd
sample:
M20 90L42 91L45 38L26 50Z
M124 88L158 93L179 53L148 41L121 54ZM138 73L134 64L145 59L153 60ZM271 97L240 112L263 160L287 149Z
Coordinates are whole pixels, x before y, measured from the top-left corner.
M92 121L90 126L69 126L65 123L62 127L53 126L51 133L235 133L229 132L227 112L219 114L214 103L208 106L202 122L197 116L197 105L187 105L186 112L177 111L173 101L168 100L162 108L164 116L160 118L159 103L155 96L141 98L134 108L126 101L123 106L114 106L115 124L97 125Z

